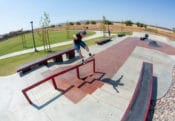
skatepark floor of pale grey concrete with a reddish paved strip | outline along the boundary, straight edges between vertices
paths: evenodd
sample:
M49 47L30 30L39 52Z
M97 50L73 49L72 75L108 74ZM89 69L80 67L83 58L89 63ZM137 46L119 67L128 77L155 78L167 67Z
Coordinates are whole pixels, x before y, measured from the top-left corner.
M54 90L50 82L28 92L38 106L53 99L40 108L30 105L21 90L74 65L79 61L77 58L72 62L42 66L23 76L17 73L0 77L0 120L119 121L133 94L143 61L153 64L153 75L157 79L154 98L161 98L171 85L175 49L156 38L152 39L156 39L161 48L151 47L134 35L134 38L116 37L103 46L90 47L96 53L96 71L105 73L100 80L80 89L74 88L64 95ZM83 55L88 54L83 51ZM71 97L74 94L81 96Z

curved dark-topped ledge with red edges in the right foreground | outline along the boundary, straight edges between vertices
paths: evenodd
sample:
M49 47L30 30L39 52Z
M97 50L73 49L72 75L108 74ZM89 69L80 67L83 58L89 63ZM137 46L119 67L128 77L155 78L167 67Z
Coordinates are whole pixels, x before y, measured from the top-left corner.
M143 63L139 81L121 121L146 121L153 86L153 65Z

